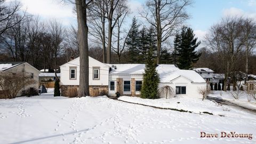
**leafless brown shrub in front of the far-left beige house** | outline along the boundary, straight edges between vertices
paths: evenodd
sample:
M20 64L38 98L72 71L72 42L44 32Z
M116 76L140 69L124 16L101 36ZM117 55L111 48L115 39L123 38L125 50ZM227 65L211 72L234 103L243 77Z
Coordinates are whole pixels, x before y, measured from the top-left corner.
M5 98L15 98L23 87L35 84L35 79L30 77L30 73L0 73L0 89L4 91Z

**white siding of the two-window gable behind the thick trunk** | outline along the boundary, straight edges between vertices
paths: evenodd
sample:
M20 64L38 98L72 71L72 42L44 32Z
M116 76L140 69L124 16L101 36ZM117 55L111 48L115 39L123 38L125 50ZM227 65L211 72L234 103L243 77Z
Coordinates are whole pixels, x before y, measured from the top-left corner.
M76 69L76 79L70 79L70 67ZM100 69L99 79L93 79L93 67L98 67ZM79 58L71 60L64 65L60 66L60 85L61 89L66 86L79 86ZM107 89L108 87L108 75L109 75L109 66L104 63L97 61L89 57L89 85L90 89L94 87L99 87L99 89ZM62 91L63 92L63 91ZM63 92L64 93L64 92ZM90 90L91 93L91 90ZM66 95L65 95L66 96Z

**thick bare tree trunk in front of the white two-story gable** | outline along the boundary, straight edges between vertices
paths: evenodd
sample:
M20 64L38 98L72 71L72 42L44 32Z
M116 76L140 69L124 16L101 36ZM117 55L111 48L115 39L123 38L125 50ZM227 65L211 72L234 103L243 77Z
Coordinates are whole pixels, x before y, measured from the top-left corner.
M80 76L78 97L89 94L89 55L88 55L88 27L86 4L83 0L76 0L76 12L78 23L78 43L80 56Z

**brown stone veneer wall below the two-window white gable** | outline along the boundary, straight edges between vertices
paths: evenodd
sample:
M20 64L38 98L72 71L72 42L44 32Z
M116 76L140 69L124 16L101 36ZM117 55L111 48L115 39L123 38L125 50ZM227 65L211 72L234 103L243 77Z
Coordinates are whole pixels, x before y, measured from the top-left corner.
M68 87L77 87L79 85L61 85L61 95L68 97ZM90 96L108 95L108 85L89 85Z

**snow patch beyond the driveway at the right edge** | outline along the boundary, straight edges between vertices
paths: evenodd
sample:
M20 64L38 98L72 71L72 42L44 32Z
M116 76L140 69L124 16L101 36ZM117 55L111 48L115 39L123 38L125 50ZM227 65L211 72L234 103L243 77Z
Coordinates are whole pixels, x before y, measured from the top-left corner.
M230 102L235 103L236 105L241 105L243 107L247 107L250 109L256 109L256 101L255 99L251 99L251 101L249 102L247 100L247 93L245 91L240 91L239 94L239 99L235 99L234 97L232 97L232 93L233 91L211 91L211 94L209 94L209 97L217 97L223 100L228 100Z

